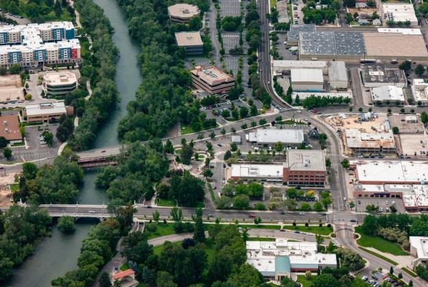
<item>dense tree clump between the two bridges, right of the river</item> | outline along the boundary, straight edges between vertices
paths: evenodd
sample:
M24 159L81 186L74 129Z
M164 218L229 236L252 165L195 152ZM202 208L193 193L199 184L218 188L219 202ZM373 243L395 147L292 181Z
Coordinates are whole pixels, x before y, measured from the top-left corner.
M167 172L168 163L160 142L148 145L133 143L119 156L117 166L106 166L97 175L95 184L107 188L110 199L119 204L138 201L143 195L151 198L152 184Z

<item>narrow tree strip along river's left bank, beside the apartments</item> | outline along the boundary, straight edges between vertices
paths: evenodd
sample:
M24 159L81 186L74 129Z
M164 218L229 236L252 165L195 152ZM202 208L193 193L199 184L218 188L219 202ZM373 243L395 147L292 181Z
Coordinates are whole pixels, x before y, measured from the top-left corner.
M99 125L108 120L109 111L118 99L115 62L119 51L112 42L113 29L104 11L91 0L75 0L74 5L80 12L84 31L93 40L93 56L85 59L81 74L90 78L91 86L95 88L69 144L74 149L88 149L95 140Z

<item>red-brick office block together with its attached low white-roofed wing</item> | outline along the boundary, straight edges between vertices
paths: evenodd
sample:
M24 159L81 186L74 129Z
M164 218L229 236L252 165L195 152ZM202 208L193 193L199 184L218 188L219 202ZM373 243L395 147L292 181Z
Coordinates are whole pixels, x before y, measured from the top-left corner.
M325 186L324 153L310 149L288 149L285 163L232 164L230 177L262 182L283 182L289 186Z

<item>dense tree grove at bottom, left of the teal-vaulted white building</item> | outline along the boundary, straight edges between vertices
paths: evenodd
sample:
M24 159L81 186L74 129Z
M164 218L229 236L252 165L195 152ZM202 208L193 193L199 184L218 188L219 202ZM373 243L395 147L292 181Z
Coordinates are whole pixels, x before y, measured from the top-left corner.
M140 282L148 285L259 287L261 275L245 263L246 245L235 225L213 225L209 236L206 244L200 243L204 241L200 236L184 240L182 245L165 242L163 251L156 255L146 235L133 232L123 240L123 255L138 267ZM213 253L211 260L208 249Z

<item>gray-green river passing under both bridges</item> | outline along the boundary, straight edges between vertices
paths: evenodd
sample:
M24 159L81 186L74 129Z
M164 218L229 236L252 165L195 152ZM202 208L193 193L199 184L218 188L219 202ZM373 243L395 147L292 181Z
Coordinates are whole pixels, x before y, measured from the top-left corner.
M115 29L112 39L121 55L116 65L115 77L121 101L117 104L117 108L112 110L110 120L104 123L99 130L97 140L93 145L93 148L102 148L120 143L117 138L117 125L126 115L126 105L135 98L136 89L141 84L141 73L136 62L140 49L139 45L130 38L126 16L117 5L116 0L93 1L104 9L104 13L110 19L110 23ZM95 177L96 171L85 173L78 203L102 204L108 202L105 192L95 187ZM24 264L16 269L9 286L50 286L52 279L76 269L82 240L86 238L89 228L93 225L95 222L78 223L77 229L72 235L64 235L56 226L53 227L52 236L43 240L36 247L34 255L27 258Z

